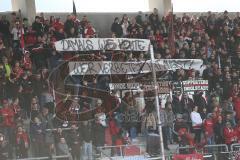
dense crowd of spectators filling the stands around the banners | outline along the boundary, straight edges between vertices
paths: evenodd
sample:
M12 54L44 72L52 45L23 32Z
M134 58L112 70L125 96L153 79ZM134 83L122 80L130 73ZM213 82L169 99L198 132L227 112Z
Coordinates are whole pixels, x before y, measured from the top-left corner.
M169 81L208 80L209 90L205 97L198 91L193 97L177 93L167 99L165 108L160 109L165 149L170 143L230 145L240 140L239 14L233 18L227 11L221 14L208 12L199 17L187 14L176 17L171 13L160 17L154 9L148 15L139 12L136 17L126 14L116 17L109 28L113 38L150 39L157 59L202 59L206 66L202 73L183 69L167 73ZM169 43L172 32L174 45ZM61 60L72 57L73 53L57 52L54 42L77 37L97 37L87 16L79 20L71 14L64 21L54 16L46 18L41 13L31 25L15 12L9 20L2 16L0 159L29 157L30 149L31 156L35 157L56 153L71 154L73 159L93 159L93 146L128 144L138 134L158 132L153 103L131 92L126 92L121 99L113 92L111 101L103 97L91 102L82 99L77 102L81 111L97 106L116 107L114 113L107 115L106 124L98 118L68 123L55 116L48 75ZM87 56L86 59L96 61L143 61L149 57L143 52L104 52ZM127 78L116 79L126 82ZM109 81L106 77L93 77L90 81L82 80L81 84L106 90ZM83 91L80 94L96 93L93 89L91 93ZM68 96L65 101L67 99ZM131 118L122 121L121 115L131 115ZM112 154L117 152L113 150Z

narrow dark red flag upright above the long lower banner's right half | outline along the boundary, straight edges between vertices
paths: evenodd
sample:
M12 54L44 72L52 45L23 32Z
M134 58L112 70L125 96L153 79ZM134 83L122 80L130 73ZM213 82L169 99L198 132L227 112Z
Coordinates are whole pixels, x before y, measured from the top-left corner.
M169 32L168 32L168 46L171 53L171 57L175 56L175 35L174 35L174 27L173 27L173 7L170 13L170 23L169 23Z

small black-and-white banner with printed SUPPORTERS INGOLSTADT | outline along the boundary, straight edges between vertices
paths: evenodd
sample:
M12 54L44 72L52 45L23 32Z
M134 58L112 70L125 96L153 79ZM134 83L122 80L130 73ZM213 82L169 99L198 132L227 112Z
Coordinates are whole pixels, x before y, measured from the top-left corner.
M207 80L188 80L183 81L184 92L198 91L198 90L208 90Z

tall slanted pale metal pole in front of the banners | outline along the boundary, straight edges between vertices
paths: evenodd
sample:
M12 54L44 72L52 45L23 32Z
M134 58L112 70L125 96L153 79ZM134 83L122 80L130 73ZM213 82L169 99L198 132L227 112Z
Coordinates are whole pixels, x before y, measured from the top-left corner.
M150 45L150 54L151 54L151 64L152 64L152 74L153 74L153 82L154 82L154 91L155 91L155 108L157 111L157 123L158 123L158 132L159 132L159 142L160 142L160 151L162 160L165 160L164 154L164 145L163 145L163 137L162 137L162 122L160 119L160 106L159 106L159 98L158 98L158 87L157 87L157 77L156 77L156 70L155 70L155 58L154 58L154 51L153 46Z

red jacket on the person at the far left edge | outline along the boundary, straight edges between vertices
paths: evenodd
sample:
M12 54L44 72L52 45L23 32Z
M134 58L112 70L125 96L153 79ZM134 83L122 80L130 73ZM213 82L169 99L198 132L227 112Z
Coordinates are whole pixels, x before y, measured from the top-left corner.
M0 110L0 116L3 117L2 126L3 127L14 127L14 111L12 108L2 108Z

